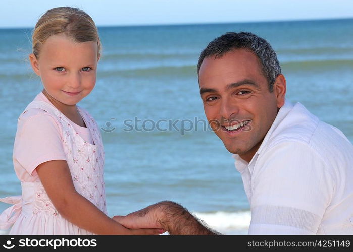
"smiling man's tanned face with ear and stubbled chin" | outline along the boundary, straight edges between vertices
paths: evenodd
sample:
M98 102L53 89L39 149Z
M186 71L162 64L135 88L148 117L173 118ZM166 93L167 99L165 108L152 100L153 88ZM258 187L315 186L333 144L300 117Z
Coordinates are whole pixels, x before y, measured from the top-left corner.
M211 128L229 152L249 162L284 104L284 76L270 93L257 56L237 49L205 58L198 81Z

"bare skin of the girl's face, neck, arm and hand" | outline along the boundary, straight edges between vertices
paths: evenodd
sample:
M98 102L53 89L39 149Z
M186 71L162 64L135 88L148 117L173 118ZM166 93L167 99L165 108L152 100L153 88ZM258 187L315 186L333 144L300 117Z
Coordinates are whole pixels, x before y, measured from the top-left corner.
M76 104L94 88L99 60L96 41L74 42L65 35L49 37L39 55L30 54L33 71L40 76L43 94L71 121L85 127ZM71 223L95 234L156 235L161 228L124 227L74 187L65 160L53 160L37 166L36 171L46 193L58 212ZM65 188L65 190L60 190ZM58 194L58 189L60 194Z

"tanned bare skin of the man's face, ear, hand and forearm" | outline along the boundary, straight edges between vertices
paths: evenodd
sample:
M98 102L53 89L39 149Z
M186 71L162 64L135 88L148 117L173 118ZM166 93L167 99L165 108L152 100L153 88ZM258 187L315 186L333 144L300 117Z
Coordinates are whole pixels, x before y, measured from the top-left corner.
M236 49L221 58L205 58L198 82L212 129L229 152L250 162L279 108L284 105L284 76L277 76L273 92L270 92L256 55L245 49ZM226 127L240 122L247 124L236 132L227 130ZM161 227L171 234L218 234L193 218L182 206L170 201L156 203L127 216L114 216L113 219L126 227Z

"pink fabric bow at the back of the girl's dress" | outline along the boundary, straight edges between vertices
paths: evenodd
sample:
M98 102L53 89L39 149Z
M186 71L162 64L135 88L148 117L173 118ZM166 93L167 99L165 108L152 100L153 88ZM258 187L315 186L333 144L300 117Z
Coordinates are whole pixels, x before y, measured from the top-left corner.
M0 229L9 229L21 214L22 196L0 198L0 202L13 204L0 214Z

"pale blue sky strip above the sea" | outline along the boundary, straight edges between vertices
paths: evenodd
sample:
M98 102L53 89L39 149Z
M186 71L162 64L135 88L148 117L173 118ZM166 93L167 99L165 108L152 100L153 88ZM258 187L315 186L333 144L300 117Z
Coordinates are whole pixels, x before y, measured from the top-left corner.
M353 18L352 0L15 0L2 3L0 28L33 27L58 6L83 9L97 26Z

